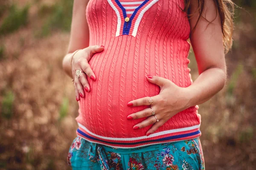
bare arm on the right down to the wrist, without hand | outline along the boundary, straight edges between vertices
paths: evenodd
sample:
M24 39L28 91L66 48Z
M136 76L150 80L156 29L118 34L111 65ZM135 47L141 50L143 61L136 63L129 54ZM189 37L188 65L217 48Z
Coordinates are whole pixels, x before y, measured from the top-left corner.
M191 0L191 13L195 11L196 3L196 0ZM216 8L213 1L206 1L202 16L208 21L214 20ZM194 16L189 20L191 30L197 18L198 16ZM226 63L219 14L210 24L204 18L201 17L195 31L190 35L199 77L187 88L191 96L189 107L206 102L218 93L226 82Z

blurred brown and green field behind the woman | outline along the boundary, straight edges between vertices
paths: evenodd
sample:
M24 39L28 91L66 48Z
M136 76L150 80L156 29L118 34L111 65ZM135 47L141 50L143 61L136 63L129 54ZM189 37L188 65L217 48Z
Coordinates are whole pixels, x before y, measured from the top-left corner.
M227 84L199 106L207 170L256 166L256 1L234 0ZM70 170L78 104L62 71L73 0L0 0L0 170ZM198 76L189 55L192 78Z

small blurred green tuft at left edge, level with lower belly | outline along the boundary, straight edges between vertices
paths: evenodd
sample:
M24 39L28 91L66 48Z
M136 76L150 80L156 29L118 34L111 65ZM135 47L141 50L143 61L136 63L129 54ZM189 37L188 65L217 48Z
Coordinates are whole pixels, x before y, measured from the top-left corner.
M2 116L6 119L10 119L13 116L13 102L14 102L14 94L12 91L8 91L3 96L3 102L2 102Z

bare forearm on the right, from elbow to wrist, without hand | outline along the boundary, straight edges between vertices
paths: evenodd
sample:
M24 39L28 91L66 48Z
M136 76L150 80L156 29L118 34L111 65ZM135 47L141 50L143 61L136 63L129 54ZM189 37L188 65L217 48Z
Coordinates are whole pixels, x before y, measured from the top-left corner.
M225 85L226 71L221 68L209 68L186 89L189 95L189 106L202 104L217 94Z

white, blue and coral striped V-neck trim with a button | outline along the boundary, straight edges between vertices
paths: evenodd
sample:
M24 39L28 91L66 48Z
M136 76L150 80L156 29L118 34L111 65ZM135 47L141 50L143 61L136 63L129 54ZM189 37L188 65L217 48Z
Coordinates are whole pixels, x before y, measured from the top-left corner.
M119 35L132 35L135 37L143 14L157 1L108 0L117 16L116 37ZM129 17L128 22L125 21L126 17Z

